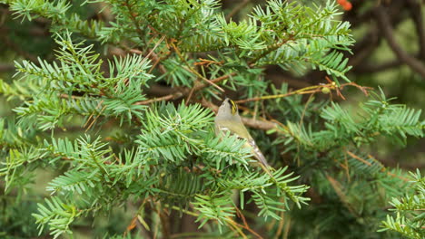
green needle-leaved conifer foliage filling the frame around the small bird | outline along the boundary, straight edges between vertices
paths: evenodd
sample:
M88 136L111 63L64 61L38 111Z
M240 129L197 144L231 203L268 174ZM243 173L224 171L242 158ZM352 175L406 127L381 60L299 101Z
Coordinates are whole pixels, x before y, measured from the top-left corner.
M39 234L72 235L76 221L130 204L139 230L160 228L154 235L163 237L170 236L164 218L177 212L193 216L200 237L244 237L252 232L249 216L267 224L269 237L292 222L291 233L301 237L363 238L386 216L387 199L408 190L404 172L366 148L382 138L405 146L423 138L425 123L420 110L391 104L382 91L357 110L312 95L247 102L243 117L255 115L245 109L262 108L268 123L279 122L251 131L270 174L255 167L244 140L215 136L204 102L220 99L219 88L242 99L289 93L264 77L267 65L349 82L342 52L353 43L350 24L338 20L331 1L309 7L272 0L238 22L226 19L216 0L83 3L103 4L113 16L105 22L84 20L69 1L0 3L19 21L48 19L56 44L53 61L16 61L13 80L0 81L0 94L15 104L12 116L0 119L7 194L0 199L31 191L36 170L54 172L45 186L51 195L31 211ZM124 53L104 57L111 49ZM173 93L155 99L149 89L157 83ZM418 198L392 205L410 210ZM403 216L384 225L417 234L423 215ZM129 234L116 238L137 237L133 222L125 223Z

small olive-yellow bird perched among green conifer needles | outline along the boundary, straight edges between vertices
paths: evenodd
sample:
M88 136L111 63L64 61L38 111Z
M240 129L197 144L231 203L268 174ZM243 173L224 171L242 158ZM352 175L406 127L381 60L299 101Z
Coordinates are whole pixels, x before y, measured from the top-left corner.
M252 154L260 161L262 168L270 175L269 164L267 164L262 151L255 144L255 140L252 139L248 129L243 125L238 107L233 100L226 98L222 101L214 122L215 134L217 136L222 137L227 131L230 131L232 135L236 135L239 139L246 139L246 147L252 148Z

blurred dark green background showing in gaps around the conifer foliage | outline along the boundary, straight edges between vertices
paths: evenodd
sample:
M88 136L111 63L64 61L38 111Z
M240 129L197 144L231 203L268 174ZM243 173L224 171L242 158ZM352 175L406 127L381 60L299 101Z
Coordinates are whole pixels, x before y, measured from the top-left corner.
M84 5L78 7L83 0L72 1L73 11L85 16L86 19L104 20L103 14L99 10L104 7L102 4ZM298 1L306 5L321 5L325 1ZM388 98L395 97L394 102L408 105L416 109L425 109L425 75L411 62L418 62L425 69L425 27L424 10L421 1L350 1L352 8L344 11L341 7L341 19L349 21L352 25L352 34L356 43L352 46L350 64L353 66L348 77L351 81L362 86L371 86L375 89L381 87ZM382 24L380 19L381 2L388 2L387 19ZM233 21L243 19L250 13L254 5L264 4L264 1L222 1L222 9ZM385 22L386 21L386 22ZM385 32L390 29L390 33ZM16 19L14 13L7 5L0 4L0 79L6 82L14 81L14 62L21 60L37 61L43 58L47 61L53 60L53 49L56 47L52 40L50 23L44 18L35 18L32 22ZM393 41L396 45L391 45ZM400 53L401 56L400 57ZM109 52L104 52L104 58L110 57ZM425 71L425 70L424 70ZM267 69L266 78L273 81L287 82L292 89L299 89L309 85L324 83L323 72L309 71L300 75L296 72L282 72L282 69L270 67ZM7 100L1 94L4 91L0 88L0 117L13 114L13 108L19 102ZM344 91L347 100L342 103L351 110L356 110L359 103L365 99L362 93L356 89ZM334 99L341 100L341 99ZM67 132L72 137L72 132ZM401 167L408 170L420 168L423 170L425 164L425 139L408 139L407 148L395 148L386 140L381 140L371 148L371 152L386 166ZM28 188L28 195L25 195L25 204L17 208L15 214L28 214L35 210L35 200L45 195L46 183L54 177L52 173L38 173L35 188ZM2 183L0 182L0 188ZM0 190L3 194L3 190ZM14 200L10 196L10 200ZM12 201L0 202L0 208L7 206ZM127 207L131 207L129 204ZM90 222L81 223L78 234L75 238L93 238L101 236L104 231L110 234L120 233L125 230L122 222L128 222L130 215L125 214L125 210L114 214L114 218L109 220L96 219ZM14 218L10 216L9 218ZM126 217L125 220L123 218ZM7 218L7 217L1 217ZM35 237L35 219L28 215L22 222L0 221L0 228L5 231L21 231L21 235ZM108 222L107 224L105 222ZM33 223L29 223L33 222ZM86 225L96 225L93 232ZM33 226L29 226L33 225ZM78 228L78 223L76 224ZM90 230L89 230L90 229ZM0 232L2 231L0 230ZM0 233L0 237L2 234Z

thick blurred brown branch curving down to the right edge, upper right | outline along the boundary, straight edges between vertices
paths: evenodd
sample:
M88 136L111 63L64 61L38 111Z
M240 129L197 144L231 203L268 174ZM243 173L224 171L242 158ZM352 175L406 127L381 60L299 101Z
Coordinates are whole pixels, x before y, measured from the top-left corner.
M387 39L392 51L400 58L400 61L405 62L413 71L420 73L420 75L425 78L425 65L416 58L410 56L408 53L404 52L400 45L396 42L394 32L390 24L390 19L383 7L380 6L376 8L375 16L380 26L381 33L383 33L384 37Z

